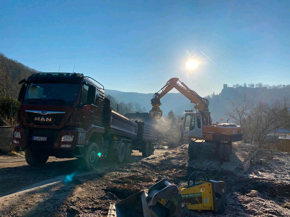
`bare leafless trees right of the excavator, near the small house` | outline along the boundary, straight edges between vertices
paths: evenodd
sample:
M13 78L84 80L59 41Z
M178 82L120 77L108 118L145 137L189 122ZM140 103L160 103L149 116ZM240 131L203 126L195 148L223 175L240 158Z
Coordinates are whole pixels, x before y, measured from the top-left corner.
M247 99L246 93L235 100L229 100L230 109L226 115L242 127L244 141L261 144L270 130L286 126L290 120L289 103L275 100L271 103L263 100Z

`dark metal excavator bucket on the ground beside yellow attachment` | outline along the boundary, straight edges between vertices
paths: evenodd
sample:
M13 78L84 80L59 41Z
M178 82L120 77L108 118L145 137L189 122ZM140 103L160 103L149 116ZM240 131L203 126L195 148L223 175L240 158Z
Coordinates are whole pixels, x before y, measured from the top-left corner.
M162 179L148 192L142 190L116 204L111 204L108 217L193 217L177 186Z

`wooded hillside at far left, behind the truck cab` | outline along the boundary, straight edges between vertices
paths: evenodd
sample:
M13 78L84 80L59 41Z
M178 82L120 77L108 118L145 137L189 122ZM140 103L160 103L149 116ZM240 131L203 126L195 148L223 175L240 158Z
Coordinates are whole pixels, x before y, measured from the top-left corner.
M39 71L0 53L0 96L17 97L21 87L18 82L36 72Z

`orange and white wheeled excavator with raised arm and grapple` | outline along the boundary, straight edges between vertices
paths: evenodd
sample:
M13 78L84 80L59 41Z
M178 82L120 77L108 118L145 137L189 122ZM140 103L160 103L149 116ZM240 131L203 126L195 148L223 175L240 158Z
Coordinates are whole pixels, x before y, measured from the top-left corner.
M212 123L211 112L208 110L209 100L199 96L179 78L169 79L165 86L154 94L151 99L150 118L162 117L162 111L159 108L162 105L160 99L173 88L182 93L190 102L195 103L194 108L197 110L196 112L185 110L182 116L181 138L191 139L188 145L188 157L198 158L201 151L216 151L221 161L230 161L232 142L243 140L242 128L236 124Z

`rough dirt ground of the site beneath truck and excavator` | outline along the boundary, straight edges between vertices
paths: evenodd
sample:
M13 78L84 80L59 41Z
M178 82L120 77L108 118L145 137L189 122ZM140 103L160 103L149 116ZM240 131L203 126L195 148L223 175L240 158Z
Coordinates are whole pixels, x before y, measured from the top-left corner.
M227 184L223 215L193 211L194 216L290 216L290 155L272 151L269 166L250 165L244 172L248 147L236 144L231 163L223 164L214 154L189 160L187 146L156 150L148 158L134 152L129 163L101 159L93 172L76 170L76 160L49 159L43 168L0 160L0 216L105 217L111 202L162 178L181 186L194 171ZM266 150L258 151L257 158L265 156Z

